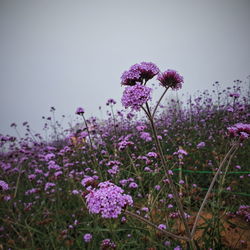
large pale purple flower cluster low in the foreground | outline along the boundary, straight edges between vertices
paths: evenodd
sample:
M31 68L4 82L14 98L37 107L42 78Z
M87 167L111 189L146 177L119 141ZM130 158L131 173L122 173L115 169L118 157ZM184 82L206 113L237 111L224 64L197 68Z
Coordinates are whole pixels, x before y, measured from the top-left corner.
M101 213L102 218L117 218L122 208L133 204L132 197L123 192L109 181L100 183L98 189L93 189L86 195L89 212Z

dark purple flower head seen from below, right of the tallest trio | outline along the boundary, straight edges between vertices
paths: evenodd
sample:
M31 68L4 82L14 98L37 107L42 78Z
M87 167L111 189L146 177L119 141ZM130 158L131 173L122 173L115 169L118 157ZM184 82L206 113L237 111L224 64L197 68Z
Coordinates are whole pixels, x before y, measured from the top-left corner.
M174 90L178 90L182 87L183 77L177 73L177 71L168 69L163 73L159 73L157 80L163 87L169 87Z

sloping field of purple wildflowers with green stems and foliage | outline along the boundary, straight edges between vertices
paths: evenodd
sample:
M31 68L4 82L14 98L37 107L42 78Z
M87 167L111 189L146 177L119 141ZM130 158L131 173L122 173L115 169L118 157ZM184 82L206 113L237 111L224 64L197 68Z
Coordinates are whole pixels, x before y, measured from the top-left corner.
M0 136L0 249L250 249L248 86L164 102L184 79L145 62L121 84L106 119Z

